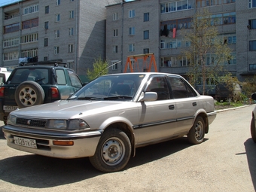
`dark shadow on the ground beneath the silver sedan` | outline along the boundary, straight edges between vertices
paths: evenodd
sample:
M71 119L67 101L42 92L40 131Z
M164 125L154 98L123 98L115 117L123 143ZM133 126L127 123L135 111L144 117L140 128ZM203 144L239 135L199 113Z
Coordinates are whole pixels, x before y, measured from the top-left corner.
M123 170L175 154L191 145L187 138L136 149L136 157ZM121 171L122 172L122 171ZM26 154L0 160L0 179L24 187L47 188L72 184L105 173L93 168L88 158L72 160Z

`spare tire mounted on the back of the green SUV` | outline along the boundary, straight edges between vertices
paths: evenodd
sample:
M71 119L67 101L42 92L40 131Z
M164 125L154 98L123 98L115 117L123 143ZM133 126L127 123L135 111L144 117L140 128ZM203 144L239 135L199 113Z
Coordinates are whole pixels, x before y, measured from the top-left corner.
M44 90L35 81L24 81L15 91L15 101L19 108L26 108L44 103Z

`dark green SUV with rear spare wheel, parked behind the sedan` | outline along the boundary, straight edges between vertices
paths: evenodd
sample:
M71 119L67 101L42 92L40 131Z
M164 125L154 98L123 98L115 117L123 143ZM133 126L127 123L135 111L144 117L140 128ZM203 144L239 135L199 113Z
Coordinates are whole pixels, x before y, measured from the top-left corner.
M67 99L82 87L72 69L60 66L20 66L0 88L0 120L17 108Z

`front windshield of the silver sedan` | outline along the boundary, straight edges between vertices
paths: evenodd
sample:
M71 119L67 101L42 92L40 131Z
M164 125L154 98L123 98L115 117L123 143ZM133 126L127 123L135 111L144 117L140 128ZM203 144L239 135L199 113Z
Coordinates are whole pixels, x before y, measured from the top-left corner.
M145 75L106 75L78 90L69 99L133 99Z

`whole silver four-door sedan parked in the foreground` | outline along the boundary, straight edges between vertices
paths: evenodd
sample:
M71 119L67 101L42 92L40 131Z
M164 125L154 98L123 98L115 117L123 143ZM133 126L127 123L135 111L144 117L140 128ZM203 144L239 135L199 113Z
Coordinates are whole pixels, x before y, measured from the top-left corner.
M105 75L69 99L12 111L3 127L8 146L48 157L89 157L96 169L123 169L136 148L187 136L204 141L214 99L179 75Z

